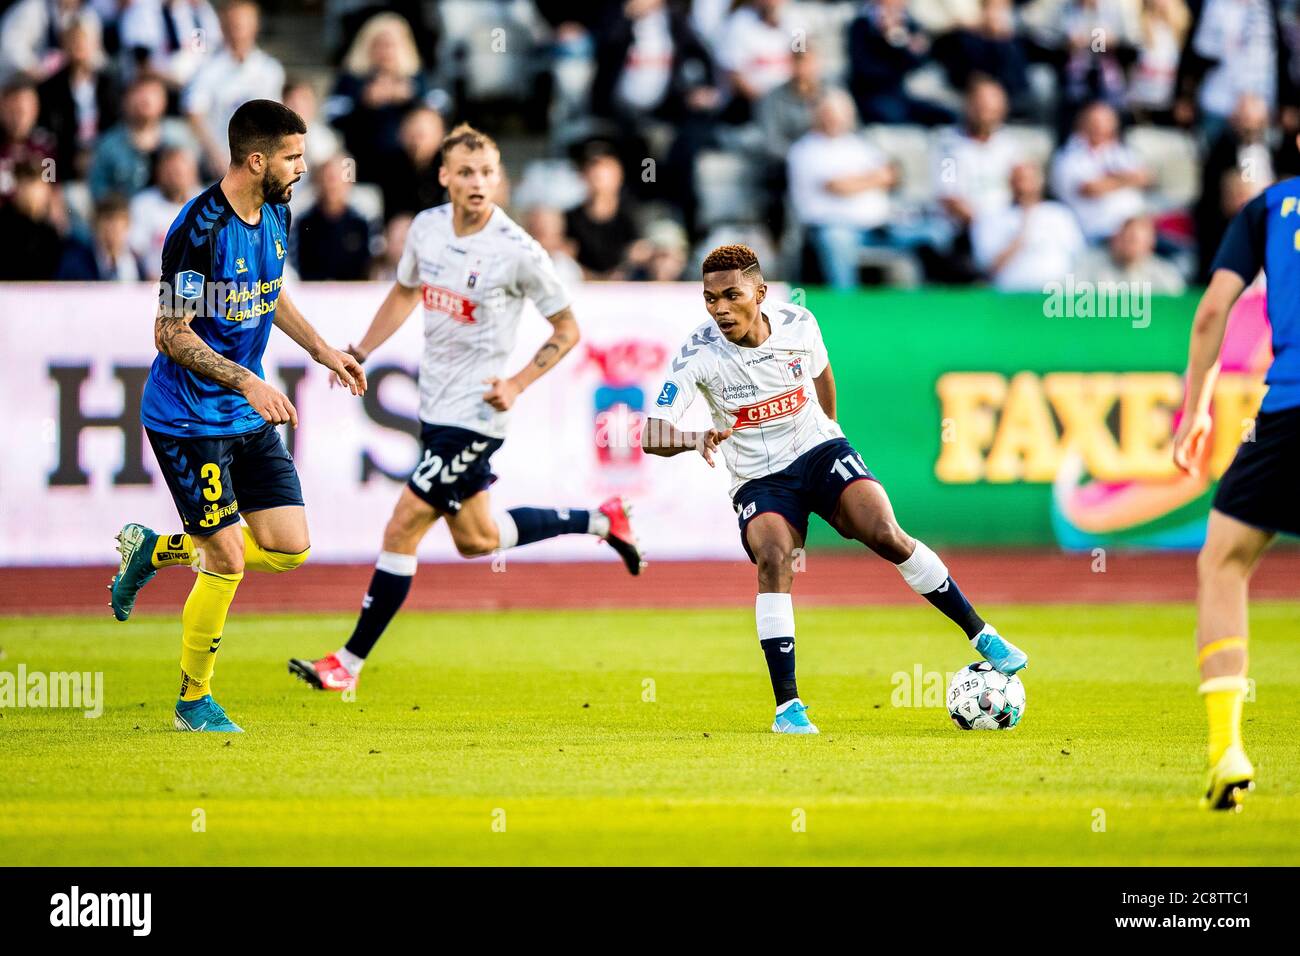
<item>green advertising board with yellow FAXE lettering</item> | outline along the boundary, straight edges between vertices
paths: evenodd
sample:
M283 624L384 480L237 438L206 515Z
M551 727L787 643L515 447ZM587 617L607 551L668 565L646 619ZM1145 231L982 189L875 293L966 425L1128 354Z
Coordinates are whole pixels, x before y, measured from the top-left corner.
M1069 294L806 291L838 420L910 533L991 548L1200 542L1210 480L1170 459L1196 297L1135 299L1126 312L1075 308ZM1230 337L1236 325L1234 313ZM1253 425L1262 365L1252 355L1225 362L1214 477ZM845 542L814 523L810 544Z

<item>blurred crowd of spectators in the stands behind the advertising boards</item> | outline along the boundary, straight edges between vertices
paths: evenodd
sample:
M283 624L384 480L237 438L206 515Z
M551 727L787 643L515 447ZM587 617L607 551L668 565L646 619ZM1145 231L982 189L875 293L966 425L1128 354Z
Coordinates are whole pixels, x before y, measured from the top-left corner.
M1205 280L1300 170L1300 0L0 0L0 278L156 278L248 99L308 122L291 263L389 280L455 122L568 281Z

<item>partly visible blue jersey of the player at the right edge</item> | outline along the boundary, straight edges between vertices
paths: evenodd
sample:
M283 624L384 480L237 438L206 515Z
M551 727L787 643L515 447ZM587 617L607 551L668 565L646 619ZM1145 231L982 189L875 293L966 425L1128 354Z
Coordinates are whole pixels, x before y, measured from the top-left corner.
M1214 269L1230 269L1247 284L1268 277L1273 364L1261 411L1300 406L1300 178L1283 179L1257 195L1228 224Z

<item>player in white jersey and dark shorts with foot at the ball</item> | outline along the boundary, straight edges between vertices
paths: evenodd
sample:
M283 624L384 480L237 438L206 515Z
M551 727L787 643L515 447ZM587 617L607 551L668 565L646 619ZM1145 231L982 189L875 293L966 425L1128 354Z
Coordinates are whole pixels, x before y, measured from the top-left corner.
M754 611L776 695L772 730L818 732L794 682L790 601L793 557L807 537L810 514L897 566L997 670L1024 667L1024 653L975 613L939 555L898 527L884 488L835 423L835 377L812 313L767 299L758 256L748 246L710 252L703 280L712 321L673 356L641 446L663 457L698 451L710 467L720 453L732 475L741 542L758 566ZM697 394L714 427L680 431Z

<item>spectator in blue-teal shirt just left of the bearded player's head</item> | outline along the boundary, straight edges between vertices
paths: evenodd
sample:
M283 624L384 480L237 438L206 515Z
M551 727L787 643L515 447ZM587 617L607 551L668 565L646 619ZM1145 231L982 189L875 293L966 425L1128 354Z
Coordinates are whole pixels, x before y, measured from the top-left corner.
M134 196L150 185L157 152L185 146L190 134L183 121L164 117L166 87L157 77L140 74L126 91L122 121L95 144L90 164L90 191L95 199L110 193Z

